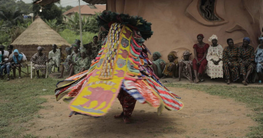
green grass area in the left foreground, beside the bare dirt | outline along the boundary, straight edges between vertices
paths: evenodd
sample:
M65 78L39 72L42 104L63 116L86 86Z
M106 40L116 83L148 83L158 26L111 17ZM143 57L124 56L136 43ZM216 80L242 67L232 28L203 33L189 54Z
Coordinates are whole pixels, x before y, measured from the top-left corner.
M34 138L34 135L21 134L28 129L25 122L42 117L35 113L43 108L41 104L47 100L39 96L54 94L57 82L57 79L30 79L30 77L11 81L0 80L0 138Z

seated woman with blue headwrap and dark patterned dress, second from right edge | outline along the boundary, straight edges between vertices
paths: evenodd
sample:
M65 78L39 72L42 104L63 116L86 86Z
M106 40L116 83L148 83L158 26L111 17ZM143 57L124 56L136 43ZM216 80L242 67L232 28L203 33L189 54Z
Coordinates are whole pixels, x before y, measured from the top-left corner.
M242 83L244 85L248 84L248 78L255 68L254 48L249 44L250 44L250 38L244 37L243 44L238 49L240 74L243 75L244 81L242 81Z

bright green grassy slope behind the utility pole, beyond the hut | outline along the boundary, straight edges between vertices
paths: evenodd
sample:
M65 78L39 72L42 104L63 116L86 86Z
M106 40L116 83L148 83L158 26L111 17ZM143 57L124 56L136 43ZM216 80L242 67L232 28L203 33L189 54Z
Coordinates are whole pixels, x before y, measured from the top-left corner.
M68 41L68 43L73 44L75 43L75 39L79 39L80 40L80 35L79 34L75 34L74 31L71 31L70 29L65 29L62 32L59 32L59 34ZM95 33L91 33L91 32L82 32L82 41L83 44L87 44L89 42L93 42L93 36L98 35Z

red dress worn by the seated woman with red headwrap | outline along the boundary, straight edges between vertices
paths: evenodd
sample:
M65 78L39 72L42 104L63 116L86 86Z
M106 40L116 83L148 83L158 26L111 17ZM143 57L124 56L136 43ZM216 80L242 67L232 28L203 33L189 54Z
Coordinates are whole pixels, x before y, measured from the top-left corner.
M205 51L209 48L209 45L205 44L204 47L200 48L197 44L194 44L193 48L195 48L197 59L198 61L200 61L203 58ZM206 69L205 68L206 65L207 65L206 58L204 58L204 60L201 62L199 66L197 65L197 61L195 60L195 58L193 59L193 70L197 70L198 73L202 74L204 70Z

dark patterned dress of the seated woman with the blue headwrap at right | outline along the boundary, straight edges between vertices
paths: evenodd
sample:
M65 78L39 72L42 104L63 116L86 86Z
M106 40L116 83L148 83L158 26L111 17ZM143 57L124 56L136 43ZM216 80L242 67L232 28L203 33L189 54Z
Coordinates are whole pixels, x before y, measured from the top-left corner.
M253 70L255 69L255 53L254 48L251 45L248 45L246 51L243 46L240 46L238 49L238 58L240 74L246 75L247 71L249 71L250 69L253 72Z

